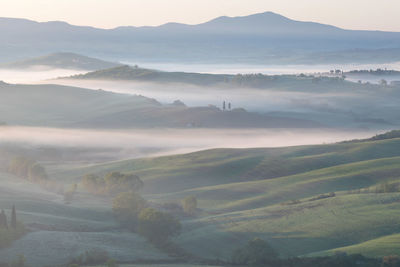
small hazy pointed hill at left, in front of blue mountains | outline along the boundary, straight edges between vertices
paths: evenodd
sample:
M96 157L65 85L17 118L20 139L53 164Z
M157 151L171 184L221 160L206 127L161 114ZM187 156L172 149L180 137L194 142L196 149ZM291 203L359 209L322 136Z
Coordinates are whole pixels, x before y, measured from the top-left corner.
M0 68L32 69L59 68L74 70L99 70L119 66L119 63L107 62L96 58L74 53L54 53L46 56L30 58L11 63L0 64Z

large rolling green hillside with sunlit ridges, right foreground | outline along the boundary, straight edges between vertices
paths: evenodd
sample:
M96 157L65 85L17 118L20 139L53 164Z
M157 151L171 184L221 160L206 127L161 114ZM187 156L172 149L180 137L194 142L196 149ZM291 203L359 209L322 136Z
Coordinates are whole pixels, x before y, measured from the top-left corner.
M254 237L268 240L282 257L334 251L381 257L398 247L399 147L400 139L386 135L318 146L215 149L54 176L76 181L86 173L133 172L152 201L195 195L201 212L184 221L176 242L200 257L229 258ZM382 191L385 184L395 189Z

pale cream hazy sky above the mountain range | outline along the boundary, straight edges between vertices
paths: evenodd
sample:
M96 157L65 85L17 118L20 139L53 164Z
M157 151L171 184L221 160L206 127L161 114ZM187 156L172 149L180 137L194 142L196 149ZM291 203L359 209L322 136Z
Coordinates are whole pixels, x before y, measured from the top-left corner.
M62 20L75 25L197 24L273 11L348 29L400 31L400 0L0 0L1 17Z

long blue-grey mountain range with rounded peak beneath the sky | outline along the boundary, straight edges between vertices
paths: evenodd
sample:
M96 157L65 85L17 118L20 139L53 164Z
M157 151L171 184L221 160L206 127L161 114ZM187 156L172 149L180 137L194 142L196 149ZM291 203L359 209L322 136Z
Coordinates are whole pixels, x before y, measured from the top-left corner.
M113 60L333 63L400 60L400 33L352 31L266 12L198 25L97 29L0 18L0 57L72 51Z

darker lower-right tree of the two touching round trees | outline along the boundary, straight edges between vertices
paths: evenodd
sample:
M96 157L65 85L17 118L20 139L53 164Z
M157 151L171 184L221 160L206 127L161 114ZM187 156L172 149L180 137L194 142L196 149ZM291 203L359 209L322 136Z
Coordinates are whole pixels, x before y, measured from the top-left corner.
M138 233L154 244L163 245L180 231L180 222L168 213L146 208L139 214Z

